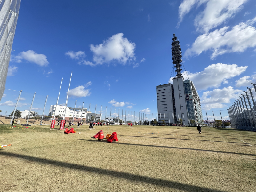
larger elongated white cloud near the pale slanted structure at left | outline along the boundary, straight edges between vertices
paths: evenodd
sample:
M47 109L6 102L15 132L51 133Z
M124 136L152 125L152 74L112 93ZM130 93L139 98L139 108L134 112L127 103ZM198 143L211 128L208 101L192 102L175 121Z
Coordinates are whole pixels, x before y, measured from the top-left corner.
M38 54L33 50L20 52L18 56L15 56L14 58L12 58L12 61L20 63L22 62L23 59L27 60L30 63L35 63L41 67L47 66L49 64L44 54Z

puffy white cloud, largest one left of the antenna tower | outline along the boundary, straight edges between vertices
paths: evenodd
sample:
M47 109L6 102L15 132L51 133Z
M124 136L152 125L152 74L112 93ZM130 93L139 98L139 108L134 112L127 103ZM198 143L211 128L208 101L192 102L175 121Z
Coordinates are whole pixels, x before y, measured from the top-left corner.
M96 64L117 61L125 65L127 61L135 60L135 43L131 43L123 37L123 33L118 33L103 41L102 44L90 46L93 52L93 61Z

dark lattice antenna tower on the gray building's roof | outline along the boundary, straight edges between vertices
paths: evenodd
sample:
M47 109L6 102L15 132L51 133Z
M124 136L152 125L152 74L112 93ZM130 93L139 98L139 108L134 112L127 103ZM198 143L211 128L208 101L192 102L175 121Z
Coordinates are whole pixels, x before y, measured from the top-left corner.
M173 64L174 67L176 68L176 76L177 77L182 77L182 74L180 73L180 71L182 70L181 67L181 59L182 55L181 55L181 48L180 48L180 42L177 40L177 37L175 36L175 33L173 34L173 38L172 38L172 60L173 60Z

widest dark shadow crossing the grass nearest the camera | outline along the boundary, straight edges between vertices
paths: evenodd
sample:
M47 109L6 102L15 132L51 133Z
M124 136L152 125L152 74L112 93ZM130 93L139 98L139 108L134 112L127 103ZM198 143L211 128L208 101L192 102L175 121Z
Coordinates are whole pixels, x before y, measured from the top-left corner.
M199 186L194 186L194 185L189 185L189 184L184 184L184 183L178 183L178 182L164 180L164 179L156 179L156 178L151 178L151 177L142 176L142 175L135 175L132 173L127 173L127 172L119 172L119 171L112 171L112 170L102 169L102 168L97 168L97 167L77 165L77 164L61 162L61 161L56 161L56 160L51 160L51 159L46 159L46 158L40 158L40 157L34 157L34 156L28 156L28 155L20 155L20 154L16 154L16 153L5 152L5 151L1 151L0 155L20 158L20 159L29 160L29 161L35 161L35 162L39 162L39 163L43 163L43 164L51 164L54 166L65 167L65 168L70 168L70 169L77 169L80 171L93 172L93 173L97 173L97 174L101 174L101 175L114 176L114 177L118 177L118 178L124 178L124 179L130 180L130 181L136 181L136 182L139 181L139 182L149 183L149 184L153 184L153 185L174 188L174 189L178 189L178 190L182 190L182 191L224 192L224 191L215 190L215 189L211 189L211 188L205 188L205 187L199 187Z

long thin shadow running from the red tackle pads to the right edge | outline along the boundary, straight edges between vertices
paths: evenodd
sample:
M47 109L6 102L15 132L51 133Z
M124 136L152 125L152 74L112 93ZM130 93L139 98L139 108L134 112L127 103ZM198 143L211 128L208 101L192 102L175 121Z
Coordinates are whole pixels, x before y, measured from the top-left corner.
M80 140L86 140L86 139L80 139ZM87 139L87 141L98 141L98 140ZM213 151L213 150L207 150L207 149L193 149L193 148L171 147L171 146L164 146L164 145L160 146L161 144L160 145L143 145L143 144L134 144L134 143L120 143L120 142L113 142L113 143L120 144L120 145L137 145L137 146L143 146L143 147L163 147L163 148L173 148L173 149L186 149L186 150L194 150L194 151L207 151L207 152L216 152L216 153L227 153L227 154L256 156L256 154L250 154L250 153L236 153L236 152L229 152L229 151Z

